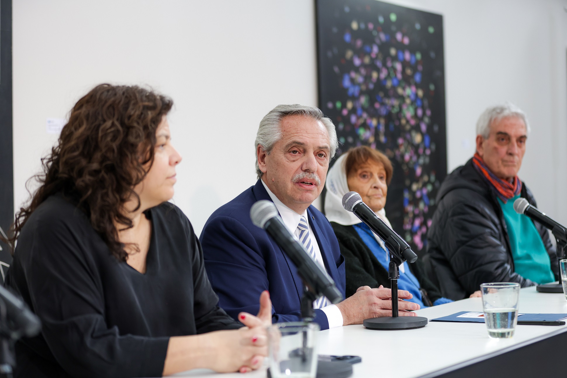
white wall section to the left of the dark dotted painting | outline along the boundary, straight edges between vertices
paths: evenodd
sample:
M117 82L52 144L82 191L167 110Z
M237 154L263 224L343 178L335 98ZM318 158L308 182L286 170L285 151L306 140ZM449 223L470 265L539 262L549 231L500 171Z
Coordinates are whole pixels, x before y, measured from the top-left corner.
M256 182L262 117L280 103L317 105L309 1L19 0L13 12L16 208L57 139L46 117L65 117L98 83L147 83L174 99L174 200L197 233Z

